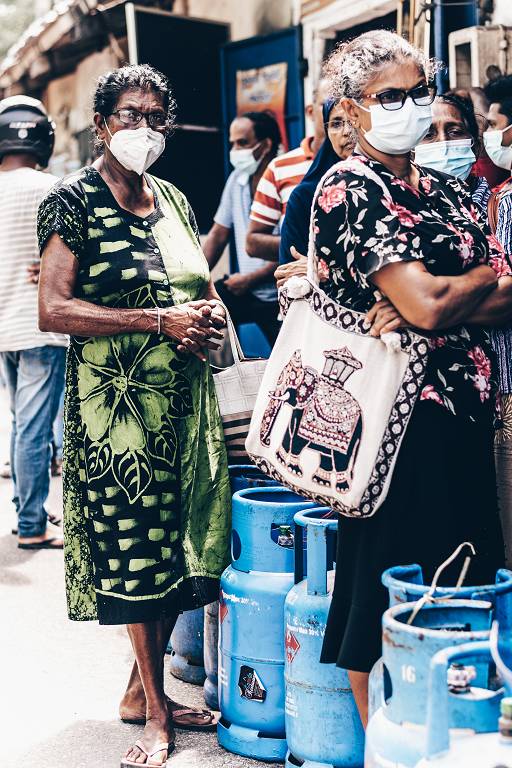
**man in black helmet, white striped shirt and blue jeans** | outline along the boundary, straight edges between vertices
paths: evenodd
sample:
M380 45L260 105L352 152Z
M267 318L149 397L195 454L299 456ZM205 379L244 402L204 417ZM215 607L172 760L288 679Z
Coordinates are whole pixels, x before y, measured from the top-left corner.
M43 173L54 125L40 101L0 101L0 358L12 411L11 471L21 549L61 549L48 527L50 441L63 387L67 337L41 333L37 286L29 269L39 259L39 203L58 181Z

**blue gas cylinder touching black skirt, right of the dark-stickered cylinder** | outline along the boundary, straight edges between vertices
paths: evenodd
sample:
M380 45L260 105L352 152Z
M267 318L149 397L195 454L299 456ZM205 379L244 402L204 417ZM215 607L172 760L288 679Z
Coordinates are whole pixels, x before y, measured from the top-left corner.
M338 521L326 508L295 515L307 528L307 579L301 581L302 553L296 558L295 586L285 603L285 684L287 768L359 768L364 732L347 672L320 664L334 586L329 532ZM329 516L328 516L329 515ZM296 536L297 546L301 542Z

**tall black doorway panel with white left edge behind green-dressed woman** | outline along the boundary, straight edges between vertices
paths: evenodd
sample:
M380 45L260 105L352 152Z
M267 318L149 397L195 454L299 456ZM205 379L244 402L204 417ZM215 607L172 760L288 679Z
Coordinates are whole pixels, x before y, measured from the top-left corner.
M224 186L220 50L229 26L126 5L131 64L148 63L169 78L177 124L152 173L189 200L199 230L210 229Z

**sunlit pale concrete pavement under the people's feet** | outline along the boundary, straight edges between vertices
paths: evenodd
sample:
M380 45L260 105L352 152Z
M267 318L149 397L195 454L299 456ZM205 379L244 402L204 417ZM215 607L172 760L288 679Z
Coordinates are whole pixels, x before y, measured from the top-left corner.
M0 463L8 440L0 390ZM142 731L117 718L133 659L126 632L68 621L62 554L17 548L10 498L10 480L0 479L0 768L118 768ZM60 512L61 504L53 480L50 508ZM165 679L172 698L204 707L202 688L167 670ZM176 746L168 768L262 765L225 752L215 734L178 731Z

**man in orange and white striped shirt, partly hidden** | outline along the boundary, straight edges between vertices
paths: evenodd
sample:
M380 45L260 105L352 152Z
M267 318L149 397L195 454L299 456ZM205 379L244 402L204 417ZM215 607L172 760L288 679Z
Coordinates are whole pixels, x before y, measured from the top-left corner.
M291 193L308 172L325 139L322 105L326 98L327 83L321 80L313 104L306 107L306 115L312 118L314 124L313 136L303 139L297 149L274 158L258 183L246 241L247 254L253 258L265 261L279 259L280 237L275 234L275 228L286 212Z

